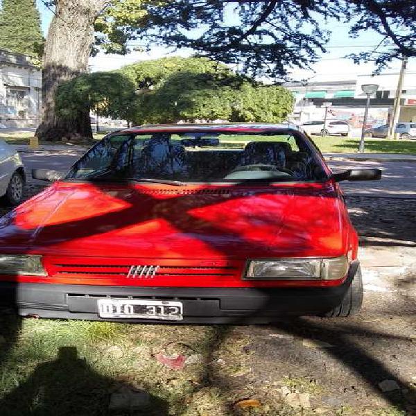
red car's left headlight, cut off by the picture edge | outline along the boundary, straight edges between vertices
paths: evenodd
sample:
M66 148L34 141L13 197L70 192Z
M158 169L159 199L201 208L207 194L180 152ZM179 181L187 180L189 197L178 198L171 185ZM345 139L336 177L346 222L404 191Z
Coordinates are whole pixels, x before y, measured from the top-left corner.
M0 274L46 276L42 256L0 254Z

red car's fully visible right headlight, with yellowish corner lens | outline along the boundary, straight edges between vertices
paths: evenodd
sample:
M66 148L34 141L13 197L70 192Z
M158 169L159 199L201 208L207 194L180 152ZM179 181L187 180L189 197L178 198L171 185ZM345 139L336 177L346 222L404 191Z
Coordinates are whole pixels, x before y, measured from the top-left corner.
M334 259L251 260L245 279L343 279L348 272L347 257Z

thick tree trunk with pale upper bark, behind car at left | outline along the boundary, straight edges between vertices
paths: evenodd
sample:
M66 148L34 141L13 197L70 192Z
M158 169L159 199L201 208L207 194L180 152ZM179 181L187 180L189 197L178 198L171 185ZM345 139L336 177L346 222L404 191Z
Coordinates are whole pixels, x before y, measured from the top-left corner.
M46 37L42 71L42 123L40 139L82 139L92 137L89 112L62 116L55 111L58 86L86 72L94 42L94 21L107 0L58 0Z

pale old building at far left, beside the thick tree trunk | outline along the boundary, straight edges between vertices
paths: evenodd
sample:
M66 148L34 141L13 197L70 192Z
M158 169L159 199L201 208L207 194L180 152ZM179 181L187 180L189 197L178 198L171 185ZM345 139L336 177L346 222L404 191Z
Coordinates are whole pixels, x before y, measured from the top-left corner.
M35 127L41 99L42 71L29 56L0 49L0 127Z

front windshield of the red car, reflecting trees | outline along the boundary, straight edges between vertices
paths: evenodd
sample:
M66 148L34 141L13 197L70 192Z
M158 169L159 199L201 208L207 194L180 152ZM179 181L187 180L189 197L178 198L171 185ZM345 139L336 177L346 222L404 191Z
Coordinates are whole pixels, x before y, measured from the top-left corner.
M326 177L318 153L302 135L215 130L112 135L67 175L155 182L303 182Z

